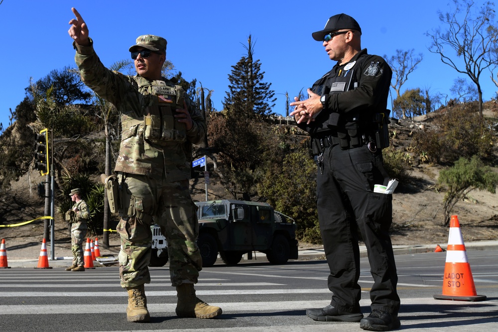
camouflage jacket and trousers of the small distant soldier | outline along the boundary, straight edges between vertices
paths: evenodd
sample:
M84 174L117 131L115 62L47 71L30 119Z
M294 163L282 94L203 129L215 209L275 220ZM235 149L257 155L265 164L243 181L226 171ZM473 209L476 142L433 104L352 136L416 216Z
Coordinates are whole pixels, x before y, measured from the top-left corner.
M77 212L74 210L78 209ZM73 266L83 266L83 241L87 236L87 220L89 217L88 206L81 200L66 213L71 223L71 252L73 253Z

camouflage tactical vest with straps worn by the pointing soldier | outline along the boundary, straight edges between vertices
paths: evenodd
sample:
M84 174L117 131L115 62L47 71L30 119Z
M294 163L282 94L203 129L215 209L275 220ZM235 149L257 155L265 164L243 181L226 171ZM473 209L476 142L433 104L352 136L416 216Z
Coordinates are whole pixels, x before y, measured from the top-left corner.
M133 80L134 79L134 80ZM176 109L183 109L183 88L179 85L168 86L164 81L149 82L143 77L133 77L131 82L145 97L142 105L143 116L132 118L122 115L123 137L128 128L143 123L143 139L158 145L183 143L187 140L187 128L174 117Z

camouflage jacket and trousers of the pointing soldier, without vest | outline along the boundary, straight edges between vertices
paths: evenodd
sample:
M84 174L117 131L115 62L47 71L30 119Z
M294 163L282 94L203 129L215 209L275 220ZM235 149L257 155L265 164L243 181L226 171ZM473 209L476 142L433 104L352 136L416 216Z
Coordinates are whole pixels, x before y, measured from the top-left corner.
M165 78L150 81L108 70L95 54L91 39L90 46L75 43L74 47L83 82L99 97L114 104L121 115L122 141L115 171L119 183L134 200L117 227L122 244L119 254L122 287L150 282L147 266L152 241L150 223L154 216L159 217L155 221L168 241L172 285L197 283L202 260L196 244L199 226L189 179L191 144L202 142L206 122L185 98L193 127L183 129L183 141L180 138L157 143L146 139L144 118L147 119L151 107L162 101L161 92L175 87L174 82ZM171 123L178 126L175 119ZM178 128L175 132L182 130Z

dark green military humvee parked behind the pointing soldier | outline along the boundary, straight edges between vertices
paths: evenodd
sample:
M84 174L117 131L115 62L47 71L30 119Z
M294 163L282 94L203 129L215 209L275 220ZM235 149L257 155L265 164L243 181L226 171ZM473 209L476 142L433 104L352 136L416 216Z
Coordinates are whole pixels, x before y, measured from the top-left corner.
M295 221L269 204L236 200L218 200L195 203L199 210L199 237L202 266L212 266L218 252L225 264L239 263L244 254L252 259L253 251L266 254L272 264L283 264L297 259ZM158 226L153 227L151 266L166 264L167 250ZM154 230L154 227L157 229ZM159 234L159 235L157 235ZM155 243L158 244L155 245ZM155 247L156 246L156 247Z

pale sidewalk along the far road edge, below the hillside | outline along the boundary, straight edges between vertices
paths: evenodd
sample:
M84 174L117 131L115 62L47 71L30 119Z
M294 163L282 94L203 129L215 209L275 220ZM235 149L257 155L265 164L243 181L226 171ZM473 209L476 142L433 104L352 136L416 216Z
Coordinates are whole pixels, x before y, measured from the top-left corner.
M446 250L446 244L440 246ZM401 255L401 254L414 254L414 253L422 253L422 252L433 252L434 249L436 248L435 244L410 244L410 245L394 245L393 250L395 255ZM490 240L490 241L475 241L475 242L466 242L465 243L465 248L467 251L470 250L496 250L498 249L498 240ZM27 268L34 268L38 264L38 257L35 259L9 259L8 258L8 247L6 248L7 250L7 263L9 267L27 267ZM119 247L117 248L119 250ZM48 248L48 251L50 249ZM101 252L103 249L101 248ZM107 251L107 250L106 250ZM112 250L116 251L116 250ZM107 255L104 252L102 252L103 255ZM114 255L114 257L118 257L118 253L112 253L110 252L109 255ZM50 267L68 267L71 265L72 262L72 257L55 257L54 260L50 259L50 253L48 253L49 260L48 260L48 265ZM252 260L242 260L242 262L266 262L266 255L262 252L256 252L255 254L253 253L253 258ZM367 248L365 245L360 245L360 256L361 257L367 257ZM317 248L313 249L303 249L299 250L299 258L298 260L316 260L316 259L325 259L325 253L323 250L323 247L318 246ZM222 260L221 258L218 258L217 263L221 263ZM94 266L95 267L102 267L104 266L103 264L99 263L98 261L94 261Z

